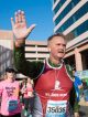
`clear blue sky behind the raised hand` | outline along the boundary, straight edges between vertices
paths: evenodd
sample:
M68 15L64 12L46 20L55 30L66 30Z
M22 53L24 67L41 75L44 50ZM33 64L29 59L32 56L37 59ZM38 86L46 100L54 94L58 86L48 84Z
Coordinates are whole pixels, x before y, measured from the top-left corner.
M28 28L35 23L36 26L29 39L33 41L46 41L54 31L53 0L0 0L0 30L11 30L10 18L14 12L25 12Z

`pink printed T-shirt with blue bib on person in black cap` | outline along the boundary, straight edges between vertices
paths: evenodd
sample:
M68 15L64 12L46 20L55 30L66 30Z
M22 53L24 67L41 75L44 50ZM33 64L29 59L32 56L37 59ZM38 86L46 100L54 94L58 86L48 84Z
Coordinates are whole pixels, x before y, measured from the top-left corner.
M8 79L0 82L0 95L2 96L1 115L9 116L21 113L19 91L20 85L16 81L11 83Z

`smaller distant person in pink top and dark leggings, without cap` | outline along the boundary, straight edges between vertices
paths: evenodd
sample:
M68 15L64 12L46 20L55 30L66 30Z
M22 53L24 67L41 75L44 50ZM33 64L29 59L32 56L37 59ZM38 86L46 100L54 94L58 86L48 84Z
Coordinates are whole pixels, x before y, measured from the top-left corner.
M31 114L31 103L33 100L33 85L31 83L31 78L28 78L25 84L22 87L23 93L23 104L24 104L24 116L28 116L29 113Z

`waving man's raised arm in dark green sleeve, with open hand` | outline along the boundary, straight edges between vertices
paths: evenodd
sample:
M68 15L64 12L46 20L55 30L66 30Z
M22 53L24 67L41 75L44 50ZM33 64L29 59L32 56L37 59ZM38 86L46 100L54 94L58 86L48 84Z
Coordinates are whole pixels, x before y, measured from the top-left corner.
M15 12L14 19L11 18L11 24L14 35L14 65L20 73L35 78L42 71L43 63L29 62L24 56L25 39L35 28L35 24L26 28L24 12L20 10Z

